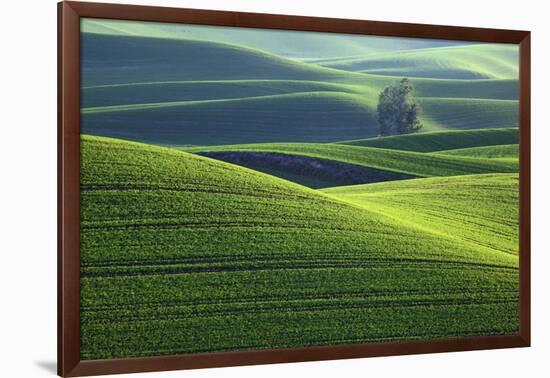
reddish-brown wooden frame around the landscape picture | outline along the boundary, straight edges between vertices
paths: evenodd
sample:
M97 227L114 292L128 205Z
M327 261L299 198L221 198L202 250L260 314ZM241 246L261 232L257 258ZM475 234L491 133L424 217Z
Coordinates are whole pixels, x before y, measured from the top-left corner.
M80 18L371 34L520 46L520 332L515 336L80 360ZM58 4L58 374L63 377L530 346L530 32L196 9Z

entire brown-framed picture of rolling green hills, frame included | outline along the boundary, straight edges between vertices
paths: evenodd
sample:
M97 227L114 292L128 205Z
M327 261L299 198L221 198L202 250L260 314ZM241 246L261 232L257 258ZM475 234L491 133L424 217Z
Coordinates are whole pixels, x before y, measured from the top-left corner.
M527 31L59 4L61 376L530 344Z

